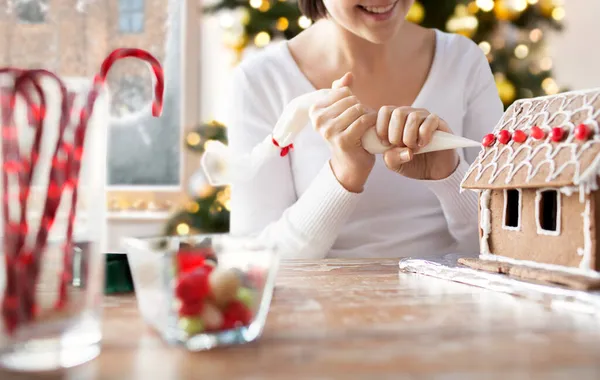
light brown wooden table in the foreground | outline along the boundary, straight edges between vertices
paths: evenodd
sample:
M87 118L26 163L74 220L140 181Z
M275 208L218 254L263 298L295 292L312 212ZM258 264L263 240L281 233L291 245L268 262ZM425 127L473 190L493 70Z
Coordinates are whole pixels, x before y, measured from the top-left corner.
M68 379L600 379L600 321L399 273L397 260L286 262L259 342L166 346L106 297L101 356ZM27 378L8 376L0 378ZM46 377L43 377L46 378Z

